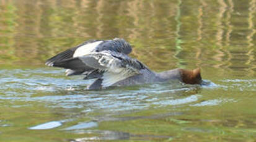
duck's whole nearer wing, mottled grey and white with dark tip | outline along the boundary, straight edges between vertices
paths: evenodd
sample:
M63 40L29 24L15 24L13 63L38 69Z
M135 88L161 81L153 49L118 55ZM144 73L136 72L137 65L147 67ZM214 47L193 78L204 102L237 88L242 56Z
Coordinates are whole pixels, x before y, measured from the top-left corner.
M147 67L126 54L115 51L90 52L85 56L54 62L53 67L71 70L85 70L88 78L99 78L102 87L107 87L139 74L139 70Z

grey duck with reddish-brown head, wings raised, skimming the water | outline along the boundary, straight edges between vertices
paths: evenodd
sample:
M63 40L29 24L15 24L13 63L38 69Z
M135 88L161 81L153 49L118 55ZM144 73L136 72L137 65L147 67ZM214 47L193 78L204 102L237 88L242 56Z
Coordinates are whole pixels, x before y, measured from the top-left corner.
M66 69L67 76L83 75L84 80L94 79L94 82L87 86L87 90L170 80L192 85L200 85L202 82L200 68L154 72L141 61L128 56L131 51L130 43L123 38L88 40L56 54L48 59L45 65Z

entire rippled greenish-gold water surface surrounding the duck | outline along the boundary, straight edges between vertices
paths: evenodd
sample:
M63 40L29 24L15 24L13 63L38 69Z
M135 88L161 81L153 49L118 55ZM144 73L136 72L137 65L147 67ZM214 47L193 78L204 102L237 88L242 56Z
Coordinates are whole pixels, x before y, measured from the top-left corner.
M0 1L0 141L255 141L256 1ZM88 91L44 62L125 38L179 82Z

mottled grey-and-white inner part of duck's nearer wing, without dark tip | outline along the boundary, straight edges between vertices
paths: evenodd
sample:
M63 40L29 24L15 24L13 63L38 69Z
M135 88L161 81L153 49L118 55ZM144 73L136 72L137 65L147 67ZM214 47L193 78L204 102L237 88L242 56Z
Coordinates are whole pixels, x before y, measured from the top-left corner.
M87 66L102 72L99 75L100 79L102 79L100 81L102 87L113 85L118 81L139 74L141 69L148 69L141 62L120 52L92 52L86 56L79 57L79 59Z

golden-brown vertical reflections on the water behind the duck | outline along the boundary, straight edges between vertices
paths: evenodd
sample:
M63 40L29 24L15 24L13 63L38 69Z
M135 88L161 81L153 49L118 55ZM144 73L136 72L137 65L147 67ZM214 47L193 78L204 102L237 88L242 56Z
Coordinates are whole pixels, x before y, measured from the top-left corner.
M91 38L124 37L135 47L133 56L160 70L187 64L200 66L201 61L212 59L216 68L234 69L237 54L229 46L237 45L238 41L244 48L247 46L245 52L241 52L245 59L240 59L239 64L250 64L243 67L250 70L255 66L252 40L255 1L247 2L249 7L234 9L234 5L246 4L232 0L200 1L193 6L198 14L192 24L193 20L183 19L193 13L188 1L1 1L2 64L3 61L7 61L5 64L42 64L57 52ZM183 43L188 38L192 38L191 41ZM145 54L145 48L149 54ZM192 50L196 56L187 56ZM164 60L156 54L161 54Z

